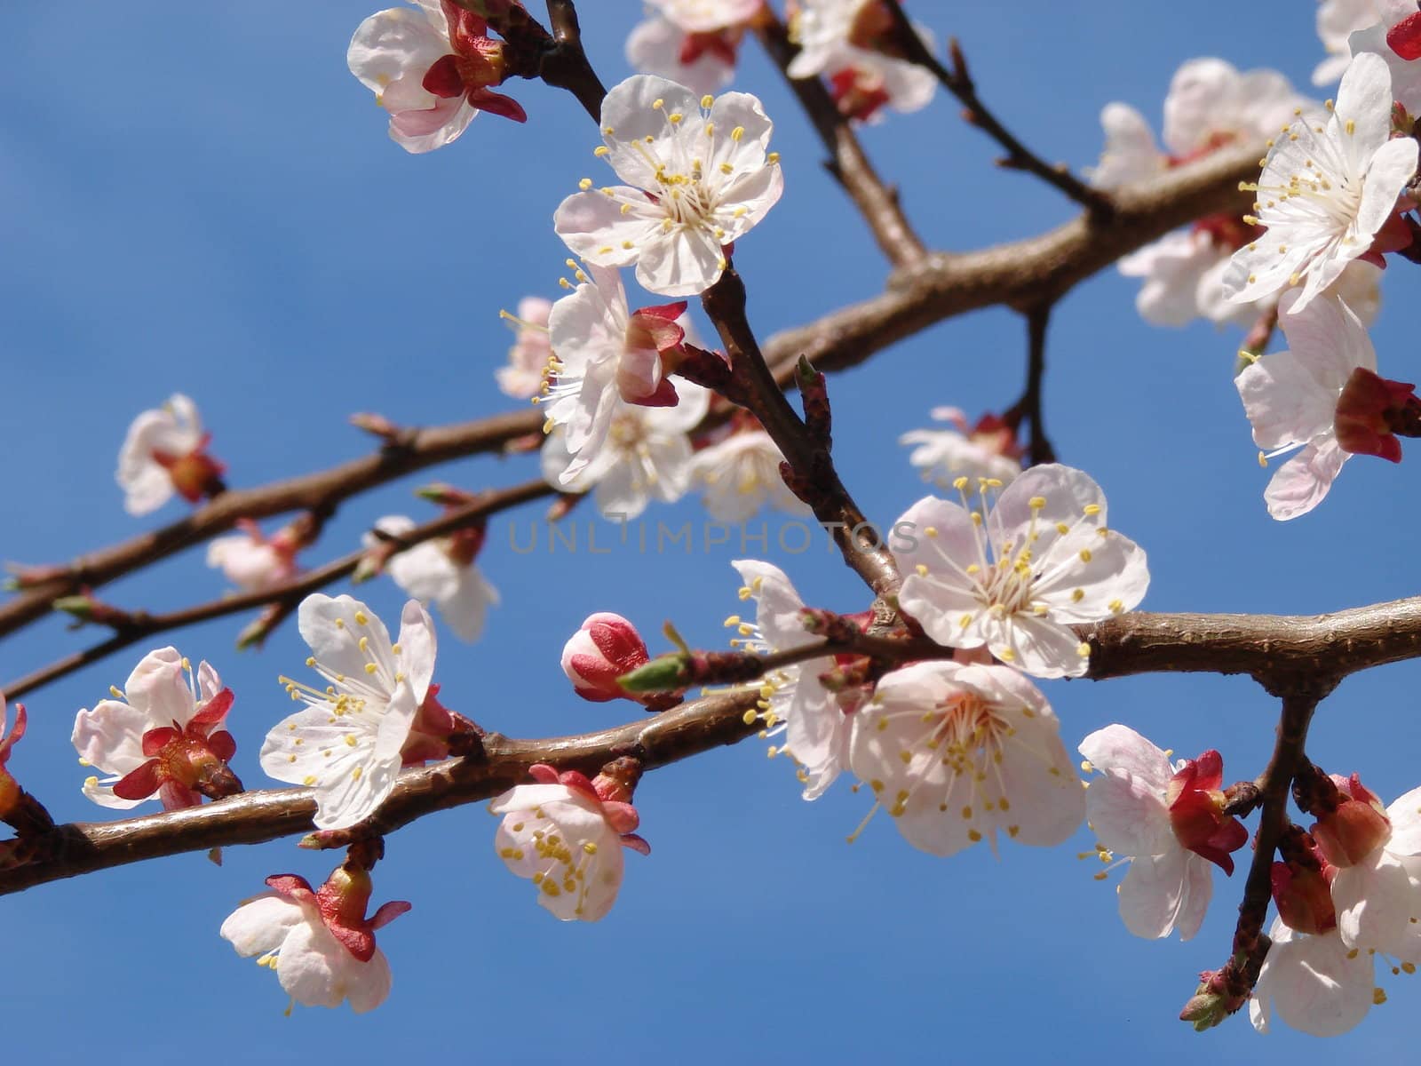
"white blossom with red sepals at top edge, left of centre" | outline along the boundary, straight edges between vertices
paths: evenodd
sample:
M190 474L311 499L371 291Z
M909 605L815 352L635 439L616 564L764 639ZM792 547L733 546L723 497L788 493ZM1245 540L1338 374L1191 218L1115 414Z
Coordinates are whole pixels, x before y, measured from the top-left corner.
M527 121L522 105L493 92L503 81L503 44L485 18L452 0L412 0L418 10L377 11L355 30L345 63L389 112L389 138L406 152L455 141L480 111Z

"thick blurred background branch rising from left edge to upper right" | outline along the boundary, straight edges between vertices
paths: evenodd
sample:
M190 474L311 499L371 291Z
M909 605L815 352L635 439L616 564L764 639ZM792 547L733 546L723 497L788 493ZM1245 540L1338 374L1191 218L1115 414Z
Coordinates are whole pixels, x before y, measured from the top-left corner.
M764 355L783 384L800 355L817 370L857 365L899 340L982 307L1030 308L1056 300L1117 259L1157 240L1177 226L1225 210L1246 210L1238 182L1258 169L1262 145L1221 151L1165 176L1117 192L1110 223L1081 216L1029 240L958 256L934 256L902 271L882 296L853 304L807 325L772 337ZM1239 206L1239 205L1243 206ZM97 587L117 577L230 530L237 519L261 519L315 509L450 459L495 452L537 434L537 412L409 431L402 446L308 475L229 490L188 517L75 559L41 586L0 604L0 637L44 617L51 603L80 586Z

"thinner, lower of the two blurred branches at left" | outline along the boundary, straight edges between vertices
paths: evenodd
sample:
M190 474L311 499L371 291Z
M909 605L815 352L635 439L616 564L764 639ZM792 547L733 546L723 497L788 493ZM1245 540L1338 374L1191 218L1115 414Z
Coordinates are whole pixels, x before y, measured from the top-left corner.
M433 537L442 537L448 533L453 533L455 530L465 529L466 526L482 522L487 516L496 515L500 510L507 510L509 507L516 507L520 503L527 503L529 500L541 499L554 493L556 490L543 480L524 482L523 485L516 485L510 489L499 489L480 496L463 507L456 507L438 519L426 522L422 526L416 526L408 533L402 533L398 537L391 539L399 543L399 550L404 550L423 543L425 540L432 540ZM274 605L288 614L296 604L298 604L301 598L310 593L324 588L333 581L338 581L340 578L348 577L354 573L355 567L360 566L360 561L364 557L365 549L351 551L341 559L327 563L317 570L304 573L286 584L277 586L276 588L266 588L257 593L244 593L240 596L225 596L220 600L212 600L210 603L186 607L180 611L169 611L166 614L149 614L148 611L114 611L111 615L105 611L105 615L112 617L111 621L105 621L105 624L114 628L112 637L90 648L84 648L82 651L65 655L64 658L57 659L33 674L27 674L18 681L11 681L0 689L0 692L6 692L11 698L21 696L27 692L33 692L41 685L55 681L57 678L72 674L81 667L108 658L115 651L136 644L138 641L152 637L153 634L166 632L168 630L195 625L196 623L207 621L210 618L222 618L229 614L250 611L257 607ZM273 621L267 625L267 631L274 628L276 621L279 621L279 618L273 618Z

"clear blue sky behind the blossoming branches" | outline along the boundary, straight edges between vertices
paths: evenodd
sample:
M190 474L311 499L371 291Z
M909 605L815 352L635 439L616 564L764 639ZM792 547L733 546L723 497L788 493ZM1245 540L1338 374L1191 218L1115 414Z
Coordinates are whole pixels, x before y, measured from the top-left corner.
M634 0L584 3L604 80L627 71ZM917 13L962 38L982 91L1047 158L1094 161L1097 114L1125 99L1158 122L1175 67L1222 55L1306 82L1320 55L1306 0L1236 3L936 4ZM550 219L583 175L601 178L595 131L571 98L514 84L530 122L480 118L456 145L406 156L345 70L345 44L371 7L247 0L179 4L24 4L9 13L0 87L0 439L9 502L0 556L67 559L172 520L121 509L114 459L132 416L175 389L195 397L233 485L330 465L368 449L345 425L378 409L398 422L458 421L510 407L493 387L510 335L497 320L527 293L556 294L566 252ZM1266 27L1266 33L1262 31ZM1248 31L1252 30L1252 31ZM769 335L877 291L884 263L820 168L821 151L777 77L746 48L740 87L776 119L786 195L736 259L756 327ZM971 249L1053 226L1071 209L1053 190L990 166L992 146L938 99L865 131L882 172L926 239ZM1403 352L1412 316L1407 264L1385 280L1376 327L1384 374L1417 374ZM1397 469L1350 463L1313 515L1272 523L1266 473L1231 382L1233 333L1161 331L1133 308L1134 284L1106 273L1052 321L1047 409L1064 461L1110 496L1111 524L1148 551L1145 607L1326 611L1418 591L1414 446ZM895 443L928 408L1009 404L1023 365L1022 323L985 311L946 323L831 382L845 480L891 522L921 495ZM441 470L468 488L533 476L533 459L483 458ZM426 515L409 485L344 507L313 561L347 551L379 515ZM510 550L493 523L483 566L504 605L475 647L445 640L446 702L513 735L593 729L628 706L576 699L557 668L584 615L614 610L657 632L674 618L703 645L737 608L736 546L610 556ZM585 522L591 509L578 513ZM674 526L699 505L652 510ZM753 551L752 544L752 551ZM821 544L772 556L806 597L855 610L863 590ZM104 593L175 608L222 591L189 551ZM401 594L362 593L387 618ZM236 689L236 768L261 786L256 752L287 714L276 684L306 655L294 627L237 654L240 620L176 634ZM14 678L95 640L55 620L0 645ZM60 819L99 819L82 800L68 743L74 712L122 682L134 650L26 702L31 733L11 769ZM1310 750L1361 770L1391 799L1414 786L1411 665L1346 682L1323 706ZM1242 678L1147 677L1049 682L1064 735L1124 721L1181 755L1216 746L1231 779L1262 769L1276 706ZM806 804L787 763L750 742L649 776L638 793L654 854L628 856L621 898L597 925L560 925L492 850L482 807L431 817L388 841L377 903L414 911L381 934L395 971L389 1002L355 1018L281 1016L276 978L240 961L217 925L261 878L318 881L325 856L290 843L114 870L0 901L0 1018L9 1062L308 1062L452 1055L550 1062L672 1059L995 1062L1250 1056L1285 1062L1306 1038L1259 1038L1243 1019L1195 1036L1174 1019L1195 974L1228 951L1241 878L1185 945L1131 938L1114 891L1073 853L983 849L938 860L880 819L848 847L867 797L845 786ZM1414 1030L1415 979L1327 1050L1394 1050Z

